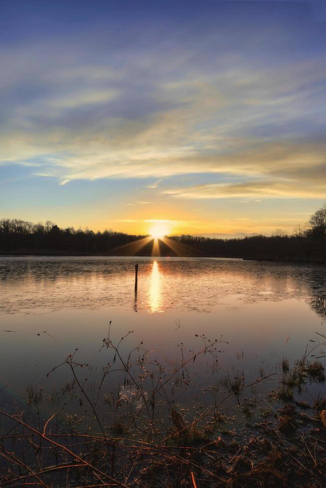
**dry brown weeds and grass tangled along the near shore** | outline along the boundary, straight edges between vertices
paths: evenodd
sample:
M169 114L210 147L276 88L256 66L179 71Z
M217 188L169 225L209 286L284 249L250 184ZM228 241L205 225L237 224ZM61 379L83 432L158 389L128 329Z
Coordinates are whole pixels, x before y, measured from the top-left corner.
M186 354L181 343L180 360L160 364L142 342L126 353L122 346L132 336L129 331L114 341L110 323L97 383L88 386L92 369L78 362L76 350L49 372L68 368L71 380L60 391L46 398L29 385L26 408L0 412L1 488L324 486L325 434L318 414L326 399L308 407L294 403L309 382L325 381L324 366L311 352L293 367L283 359L279 388L269 395L268 408L257 409L256 389L272 375L245 383L244 373L232 370L217 381L213 368L212 384L200 396L196 365L208 358L216 365L221 338L197 335L197 351ZM62 402L71 413L60 412ZM302 413L307 408L315 416ZM230 425L233 411L241 412L237 430Z

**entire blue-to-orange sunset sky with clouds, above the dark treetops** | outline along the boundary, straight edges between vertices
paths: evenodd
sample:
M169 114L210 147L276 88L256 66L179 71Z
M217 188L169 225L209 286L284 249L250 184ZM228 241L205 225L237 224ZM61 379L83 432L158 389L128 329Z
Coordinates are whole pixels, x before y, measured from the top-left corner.
M2 0L0 218L291 233L325 107L324 1Z

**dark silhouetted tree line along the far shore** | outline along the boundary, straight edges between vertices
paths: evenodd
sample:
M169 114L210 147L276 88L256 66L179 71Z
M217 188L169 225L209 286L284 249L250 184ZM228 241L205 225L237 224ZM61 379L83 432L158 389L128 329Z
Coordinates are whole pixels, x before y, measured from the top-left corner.
M132 243L143 235L129 235L105 230L60 229L47 221L32 224L18 219L0 221L1 254L104 254L133 253ZM310 218L307 226L292 235L276 231L272 236L250 236L238 239L213 239L200 236L170 236L170 245L161 241L160 254L184 256L242 257L276 261L326 262L326 204ZM152 255L148 242L138 255Z

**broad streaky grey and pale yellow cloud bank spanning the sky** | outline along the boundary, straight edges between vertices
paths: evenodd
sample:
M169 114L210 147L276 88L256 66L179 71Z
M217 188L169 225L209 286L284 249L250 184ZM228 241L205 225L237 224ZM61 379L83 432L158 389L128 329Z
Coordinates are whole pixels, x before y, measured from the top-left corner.
M323 198L324 54L251 66L241 49L200 42L172 39L159 54L60 42L2 50L0 164L62 185L158 178L147 185L156 189L165 177L207 175L163 189L178 198Z

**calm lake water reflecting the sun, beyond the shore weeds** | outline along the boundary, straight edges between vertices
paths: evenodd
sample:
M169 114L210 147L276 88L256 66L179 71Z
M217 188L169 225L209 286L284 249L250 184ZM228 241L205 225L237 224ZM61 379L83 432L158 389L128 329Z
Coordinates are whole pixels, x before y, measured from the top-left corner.
M180 358L181 342L185 355L200 349L196 335L222 338L218 373L240 371L248 381L278 371L283 357L294 362L326 329L326 269L312 265L1 257L0 297L0 389L7 385L16 399L30 383L47 392L59 388L69 372L46 373L76 348L78 361L92 365L89 374L96 376L108 362L108 352L99 350L109 321L116 340L133 331L123 354L143 341L151 358L166 364ZM196 371L202 386L207 365L204 358Z

